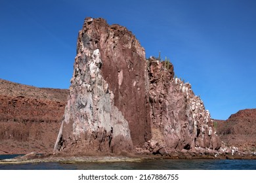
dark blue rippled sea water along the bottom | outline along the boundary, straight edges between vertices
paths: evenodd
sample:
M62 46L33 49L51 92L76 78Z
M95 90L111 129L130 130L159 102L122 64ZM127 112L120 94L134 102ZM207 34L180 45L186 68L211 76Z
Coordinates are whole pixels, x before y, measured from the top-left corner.
M0 155L0 159L15 155ZM0 170L256 170L256 159L149 159L142 162L0 164Z

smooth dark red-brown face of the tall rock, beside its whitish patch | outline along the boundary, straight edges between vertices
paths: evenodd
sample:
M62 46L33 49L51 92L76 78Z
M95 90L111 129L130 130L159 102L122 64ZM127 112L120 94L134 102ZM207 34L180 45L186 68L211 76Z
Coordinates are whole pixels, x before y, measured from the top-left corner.
M85 21L79 35L78 42L100 50L102 76L114 93L114 105L129 122L133 144L144 144L151 137L144 48L125 27L108 25L102 18Z

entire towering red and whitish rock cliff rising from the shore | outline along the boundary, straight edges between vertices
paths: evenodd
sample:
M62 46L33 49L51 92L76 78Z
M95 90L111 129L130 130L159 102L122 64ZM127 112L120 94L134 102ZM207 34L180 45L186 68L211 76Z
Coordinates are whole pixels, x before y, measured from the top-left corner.
M86 18L55 152L218 149L203 102L173 75L125 27Z

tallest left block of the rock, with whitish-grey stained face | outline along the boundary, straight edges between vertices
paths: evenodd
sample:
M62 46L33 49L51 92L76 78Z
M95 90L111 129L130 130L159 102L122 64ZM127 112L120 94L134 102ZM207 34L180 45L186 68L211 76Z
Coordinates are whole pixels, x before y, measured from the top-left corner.
M139 70L145 70L146 61L140 60L144 52L137 44L124 27L110 26L101 18L85 20L79 31L70 96L55 150L119 154L144 143L145 80ZM129 72L128 62L134 73ZM133 62L139 68L133 69ZM131 88L135 78L139 89Z

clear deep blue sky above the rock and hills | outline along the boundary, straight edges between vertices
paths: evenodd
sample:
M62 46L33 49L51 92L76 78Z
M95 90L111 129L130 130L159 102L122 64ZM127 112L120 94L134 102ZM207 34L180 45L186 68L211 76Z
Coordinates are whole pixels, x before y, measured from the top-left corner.
M0 1L0 78L68 88L85 17L132 31L167 56L212 118L256 108L256 1Z

